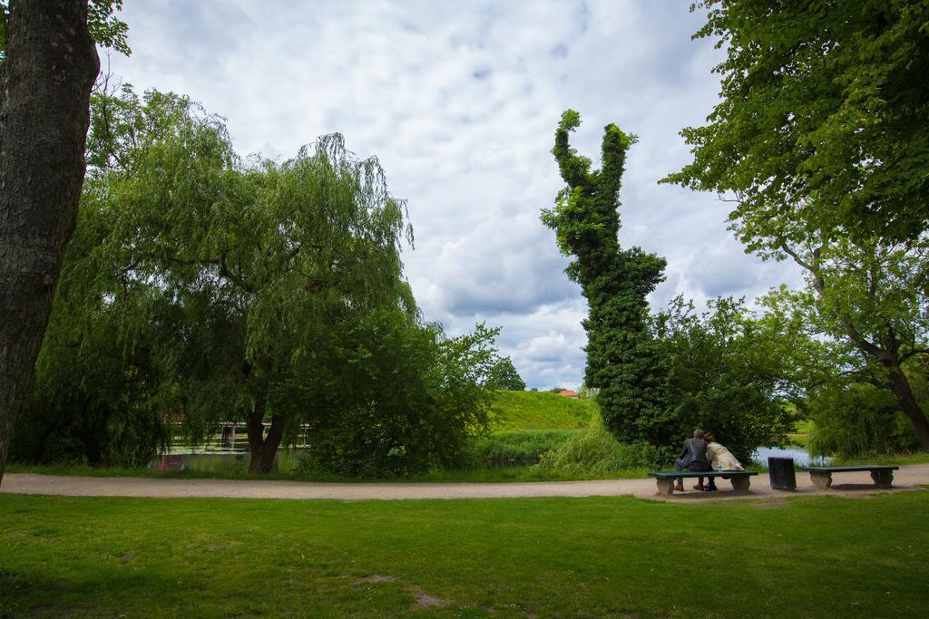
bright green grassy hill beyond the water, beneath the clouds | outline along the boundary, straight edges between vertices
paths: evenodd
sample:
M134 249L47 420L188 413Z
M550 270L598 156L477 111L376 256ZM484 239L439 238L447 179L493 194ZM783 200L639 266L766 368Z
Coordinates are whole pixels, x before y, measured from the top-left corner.
M491 430L587 428L597 412L592 400L557 393L498 391L491 406Z

